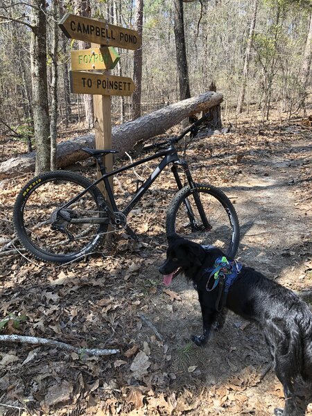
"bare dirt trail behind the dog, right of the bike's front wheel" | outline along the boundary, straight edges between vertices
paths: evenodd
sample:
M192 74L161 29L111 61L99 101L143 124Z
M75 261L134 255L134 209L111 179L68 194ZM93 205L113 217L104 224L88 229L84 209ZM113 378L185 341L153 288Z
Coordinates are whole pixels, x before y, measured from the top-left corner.
M311 209L304 205L297 189L300 179L292 175L296 166L311 168L312 151L305 150L308 144L295 141L286 154L270 157L243 184L234 186L241 222L241 256L264 271L283 272L291 265L285 259L297 254L295 248L311 237Z

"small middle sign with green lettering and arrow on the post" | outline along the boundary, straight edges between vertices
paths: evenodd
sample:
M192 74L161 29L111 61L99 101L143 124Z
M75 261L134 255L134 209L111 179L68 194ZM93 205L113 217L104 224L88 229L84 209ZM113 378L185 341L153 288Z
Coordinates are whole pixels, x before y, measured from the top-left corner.
M109 48L90 48L71 51L72 71L88 69L113 69L120 60L120 55L113 46Z

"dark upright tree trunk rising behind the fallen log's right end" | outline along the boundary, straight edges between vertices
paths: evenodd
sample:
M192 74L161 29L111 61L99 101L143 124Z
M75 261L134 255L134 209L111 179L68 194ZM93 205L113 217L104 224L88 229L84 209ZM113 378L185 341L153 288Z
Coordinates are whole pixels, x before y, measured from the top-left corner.
M175 18L175 51L177 54L177 74L180 85L180 100L191 97L189 89L189 71L187 69L187 49L184 37L183 1L173 0Z

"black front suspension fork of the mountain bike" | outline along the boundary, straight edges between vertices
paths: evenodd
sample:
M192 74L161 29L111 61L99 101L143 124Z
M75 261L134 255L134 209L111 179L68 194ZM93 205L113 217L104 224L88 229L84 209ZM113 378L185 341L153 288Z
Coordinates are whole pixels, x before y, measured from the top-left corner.
M196 189L196 183L193 181L193 177L191 175L191 172L189 171L189 164L187 163L186 160L179 160L177 162L173 163L173 166L171 168L171 171L173 172L173 175L175 177L175 182L177 182L177 187L178 189L182 189L183 185L182 182L180 180L180 176L177 173L177 166L181 166L185 176L187 177L187 182L189 182L189 187L191 189ZM202 226L204 227L205 230L210 231L211 230L211 225L209 224L209 221L207 220L207 216L205 214L205 210L202 207L202 202L200 200L200 196L198 194L198 192L193 192L192 196L194 198L194 202L196 204L196 207L198 209L198 213L200 214L200 219L202 220ZM196 231L200 228L200 225L198 223L196 223L196 216L193 213L193 209L191 207L191 204L189 202L188 198L185 198L185 200L183 201L185 208L187 210L187 216L189 217L189 221L191 223L191 229L192 231Z

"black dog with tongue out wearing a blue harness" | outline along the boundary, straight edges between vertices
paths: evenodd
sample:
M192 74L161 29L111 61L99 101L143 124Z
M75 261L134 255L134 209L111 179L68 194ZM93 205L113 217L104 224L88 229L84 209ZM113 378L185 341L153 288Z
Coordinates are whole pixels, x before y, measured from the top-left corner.
M207 248L174 234L168 237L166 261L159 272L164 275L167 285L180 271L193 281L203 323L202 335L192 336L197 345L204 345L211 331L223 326L223 306L257 322L268 343L277 378L284 387L286 406L284 410L275 409L275 415L304 415L306 406L312 401L312 313L309 306L295 293L253 268L243 266L239 271L240 267L232 259L227 260L229 267L234 269L234 279L225 294L220 286L221 283L227 286L227 275L223 275L225 282L220 280L217 284L215 276L218 277L218 273L214 275L223 256L218 248Z

